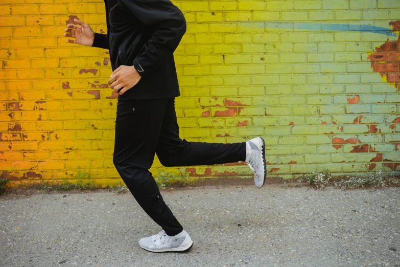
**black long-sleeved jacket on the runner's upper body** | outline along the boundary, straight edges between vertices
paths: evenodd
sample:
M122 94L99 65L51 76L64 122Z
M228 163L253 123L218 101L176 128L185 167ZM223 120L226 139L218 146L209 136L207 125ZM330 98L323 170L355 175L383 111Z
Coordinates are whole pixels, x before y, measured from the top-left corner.
M169 0L104 0L107 34L95 33L93 47L108 49L112 71L134 66L142 78L118 100L180 95L174 51L186 32L182 12Z

